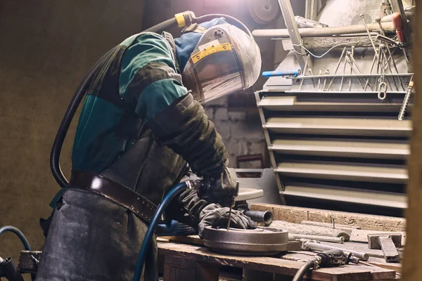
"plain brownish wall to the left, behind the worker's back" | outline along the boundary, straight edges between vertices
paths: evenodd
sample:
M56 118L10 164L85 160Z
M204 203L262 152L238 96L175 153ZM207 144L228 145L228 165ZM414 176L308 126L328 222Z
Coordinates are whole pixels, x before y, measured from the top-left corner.
M58 191L49 155L68 101L89 67L142 22L139 0L0 0L0 226L23 230L33 249ZM20 249L12 234L0 237L0 256L16 259Z

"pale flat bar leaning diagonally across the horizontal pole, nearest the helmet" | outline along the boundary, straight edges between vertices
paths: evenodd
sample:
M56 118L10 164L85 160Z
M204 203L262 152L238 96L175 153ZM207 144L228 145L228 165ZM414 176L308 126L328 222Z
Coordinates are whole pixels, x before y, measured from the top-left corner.
M284 22L286 23L286 27L288 28L288 35L292 40L292 43L295 48L296 58L298 58L300 69L303 72L303 70L305 69L305 58L303 58L303 55L300 54L303 53L305 50L300 46L302 38L300 37L298 25L296 24L292 4L290 3L290 0L279 0L279 5L281 8L281 13L283 13ZM312 62L310 64L310 68L312 68Z

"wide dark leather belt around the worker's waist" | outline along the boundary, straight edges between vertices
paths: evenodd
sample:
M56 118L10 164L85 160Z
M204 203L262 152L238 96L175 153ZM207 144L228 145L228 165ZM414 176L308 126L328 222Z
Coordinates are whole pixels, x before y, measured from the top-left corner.
M127 188L105 176L98 176L88 171L72 171L70 187L94 192L108 200L134 212L136 216L149 223L157 206L138 192Z

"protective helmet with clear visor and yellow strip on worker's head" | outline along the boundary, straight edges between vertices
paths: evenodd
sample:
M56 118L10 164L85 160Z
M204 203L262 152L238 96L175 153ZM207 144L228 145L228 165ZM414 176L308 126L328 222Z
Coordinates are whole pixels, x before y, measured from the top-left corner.
M243 89L257 81L260 48L238 27L224 23L203 29L182 73L184 85L200 103Z

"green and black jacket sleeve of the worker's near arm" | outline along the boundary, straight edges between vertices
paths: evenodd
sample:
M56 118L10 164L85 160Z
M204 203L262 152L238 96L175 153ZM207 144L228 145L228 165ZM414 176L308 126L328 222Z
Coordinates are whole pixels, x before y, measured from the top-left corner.
M203 107L181 82L169 44L143 34L122 58L120 95L158 141L184 157L200 176L221 174L228 153Z

